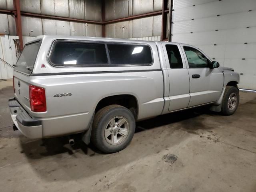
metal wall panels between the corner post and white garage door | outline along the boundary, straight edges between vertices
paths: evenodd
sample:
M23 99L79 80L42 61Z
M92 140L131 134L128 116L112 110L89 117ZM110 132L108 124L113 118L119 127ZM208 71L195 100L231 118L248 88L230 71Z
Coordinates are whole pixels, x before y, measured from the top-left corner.
M169 4L170 1L168 1ZM162 10L162 0L108 0L105 9L105 20L108 21L160 11ZM140 38L160 36L161 26L162 15L116 22L106 24L106 37Z

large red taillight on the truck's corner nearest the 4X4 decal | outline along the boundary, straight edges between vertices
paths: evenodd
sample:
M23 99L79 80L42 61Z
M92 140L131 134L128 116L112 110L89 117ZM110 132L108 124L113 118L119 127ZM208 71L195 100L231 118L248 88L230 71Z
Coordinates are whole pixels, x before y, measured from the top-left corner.
M29 86L30 108L34 112L46 111L46 98L44 88L34 85Z

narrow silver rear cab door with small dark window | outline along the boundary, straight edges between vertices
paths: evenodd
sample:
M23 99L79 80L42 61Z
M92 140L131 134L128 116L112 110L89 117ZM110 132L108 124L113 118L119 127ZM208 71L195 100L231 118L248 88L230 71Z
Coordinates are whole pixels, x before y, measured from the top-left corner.
M169 76L169 111L187 108L190 100L189 75L180 44L162 42L162 46Z

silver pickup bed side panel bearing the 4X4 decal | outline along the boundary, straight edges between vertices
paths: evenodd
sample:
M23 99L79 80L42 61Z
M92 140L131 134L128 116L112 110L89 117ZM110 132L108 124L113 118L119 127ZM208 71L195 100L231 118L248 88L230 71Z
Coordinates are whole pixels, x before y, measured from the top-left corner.
M44 137L86 130L98 102L112 95L130 94L138 102L138 120L162 112L162 71L112 74L33 76L32 84L45 88L47 112L32 113L43 120ZM71 96L54 97L55 94Z

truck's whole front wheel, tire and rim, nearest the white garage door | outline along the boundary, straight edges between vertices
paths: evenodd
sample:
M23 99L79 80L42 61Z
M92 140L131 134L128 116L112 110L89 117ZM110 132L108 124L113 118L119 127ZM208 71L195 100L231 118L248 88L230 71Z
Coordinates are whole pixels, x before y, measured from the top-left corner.
M239 104L239 90L233 86L226 86L222 100L221 113L223 115L232 115L236 112Z

